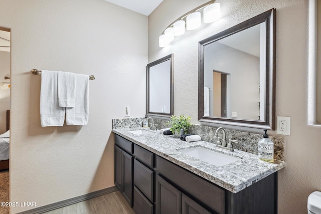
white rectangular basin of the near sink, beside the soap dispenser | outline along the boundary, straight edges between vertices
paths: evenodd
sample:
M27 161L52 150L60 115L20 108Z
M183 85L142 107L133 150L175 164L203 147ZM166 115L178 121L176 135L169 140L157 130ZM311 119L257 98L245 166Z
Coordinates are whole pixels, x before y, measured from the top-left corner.
M203 147L194 147L180 150L183 154L203 160L215 166L224 166L240 160L240 158L222 154Z

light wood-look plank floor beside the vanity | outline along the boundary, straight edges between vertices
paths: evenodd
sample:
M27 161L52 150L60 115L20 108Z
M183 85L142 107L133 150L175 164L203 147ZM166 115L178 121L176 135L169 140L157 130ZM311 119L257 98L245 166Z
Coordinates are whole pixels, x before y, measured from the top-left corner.
M46 214L134 214L119 191L61 207Z

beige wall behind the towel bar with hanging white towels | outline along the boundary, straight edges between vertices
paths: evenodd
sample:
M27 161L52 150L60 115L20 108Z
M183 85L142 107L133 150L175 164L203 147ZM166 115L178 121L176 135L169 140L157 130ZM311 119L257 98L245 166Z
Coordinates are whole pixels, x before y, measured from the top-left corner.
M145 113L147 17L103 0L2 0L0 26L12 35L10 200L42 206L113 186L111 120L125 106ZM34 68L96 76L87 126L41 127Z

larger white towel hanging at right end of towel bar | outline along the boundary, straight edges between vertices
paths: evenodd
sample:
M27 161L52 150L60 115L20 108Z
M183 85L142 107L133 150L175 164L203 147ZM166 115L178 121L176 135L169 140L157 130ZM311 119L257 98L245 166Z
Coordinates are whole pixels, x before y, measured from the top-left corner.
M67 125L87 125L89 116L89 76L76 74L75 107L66 108Z

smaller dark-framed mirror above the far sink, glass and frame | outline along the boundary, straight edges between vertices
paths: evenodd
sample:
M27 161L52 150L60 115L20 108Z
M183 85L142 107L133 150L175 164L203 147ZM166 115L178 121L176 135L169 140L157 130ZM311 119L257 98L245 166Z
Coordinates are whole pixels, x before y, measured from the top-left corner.
M174 114L174 54L146 66L146 114Z

